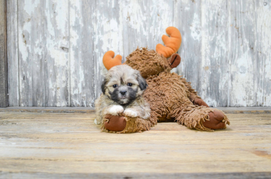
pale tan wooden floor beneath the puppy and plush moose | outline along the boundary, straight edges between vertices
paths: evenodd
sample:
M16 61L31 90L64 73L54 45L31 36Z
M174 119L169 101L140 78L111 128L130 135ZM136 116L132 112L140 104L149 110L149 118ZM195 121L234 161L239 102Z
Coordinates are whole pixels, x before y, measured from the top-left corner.
M225 130L177 123L100 131L93 113L0 112L2 178L270 178L271 114L227 114Z

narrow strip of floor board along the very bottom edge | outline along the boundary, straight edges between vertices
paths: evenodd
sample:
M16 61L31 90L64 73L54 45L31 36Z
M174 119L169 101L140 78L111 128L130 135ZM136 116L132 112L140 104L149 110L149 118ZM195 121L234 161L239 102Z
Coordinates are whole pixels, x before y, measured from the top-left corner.
M8 173L2 172L0 176L12 179L268 179L271 172L249 173L96 173L96 174L48 174L48 173Z

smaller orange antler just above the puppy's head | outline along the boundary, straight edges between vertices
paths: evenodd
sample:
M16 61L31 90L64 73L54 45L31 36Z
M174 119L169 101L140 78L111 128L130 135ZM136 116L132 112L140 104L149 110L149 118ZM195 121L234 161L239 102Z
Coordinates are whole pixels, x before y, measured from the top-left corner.
M115 56L115 53L113 51L108 51L104 54L104 56L102 58L102 62L107 70L109 70L113 66L122 64L121 63L122 56L116 55L115 58L114 58L114 56Z

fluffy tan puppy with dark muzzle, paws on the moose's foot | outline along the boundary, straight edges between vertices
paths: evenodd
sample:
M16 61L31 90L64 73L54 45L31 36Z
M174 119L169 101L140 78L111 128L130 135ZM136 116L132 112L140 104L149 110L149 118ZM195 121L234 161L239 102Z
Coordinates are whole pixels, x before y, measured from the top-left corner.
M95 101L96 124L101 124L107 114L148 119L150 108L142 93L147 83L140 72L128 65L117 65L106 73L102 82L102 94Z

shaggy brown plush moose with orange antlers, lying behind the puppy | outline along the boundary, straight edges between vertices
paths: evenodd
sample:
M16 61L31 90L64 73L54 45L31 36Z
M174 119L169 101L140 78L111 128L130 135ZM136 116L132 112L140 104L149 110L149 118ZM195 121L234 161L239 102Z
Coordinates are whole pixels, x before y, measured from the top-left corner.
M166 46L158 44L156 51L137 48L125 61L125 64L139 70L148 83L144 98L151 108L150 119L107 115L102 129L132 133L149 130L157 122L176 121L192 129L213 131L224 129L226 124L230 124L222 111L209 108L186 79L170 72L181 61L180 56L175 54L181 44L181 34L174 27L166 31L170 36L162 37ZM113 57L112 51L104 55L103 63L107 69L121 64L121 56Z

